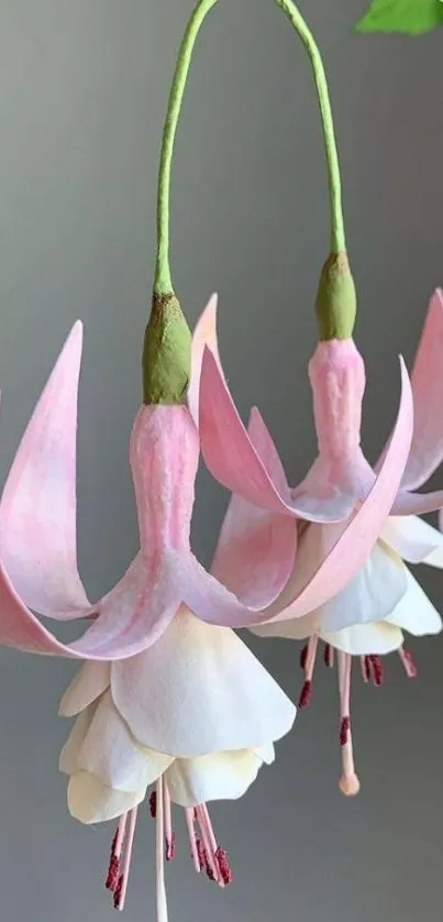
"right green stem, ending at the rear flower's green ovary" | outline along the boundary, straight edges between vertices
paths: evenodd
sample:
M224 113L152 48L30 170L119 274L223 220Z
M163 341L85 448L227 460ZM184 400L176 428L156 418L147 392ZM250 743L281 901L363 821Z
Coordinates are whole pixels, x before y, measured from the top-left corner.
M324 149L328 162L329 191L331 199L331 252L340 253L346 250L342 209L342 183L340 177L339 154L336 150L331 99L323 62L315 40L292 0L276 0L276 3L280 7L289 22L298 32L311 59L319 98Z

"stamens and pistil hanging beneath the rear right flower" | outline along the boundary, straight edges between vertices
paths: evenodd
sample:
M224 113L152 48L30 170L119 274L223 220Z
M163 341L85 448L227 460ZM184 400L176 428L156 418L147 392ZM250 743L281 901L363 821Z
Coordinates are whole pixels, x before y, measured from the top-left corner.
M307 707L312 700L312 680L313 670L315 666L315 658L319 647L319 638L317 635L310 637L308 644L302 648L300 654L300 667L304 672L304 681L301 687L300 698L298 702L299 707ZM417 667L413 662L412 655L409 650L400 647L398 650L401 663L405 668L408 678L413 679L417 676ZM344 654L341 650L334 649L331 644L324 645L323 661L329 668L334 667L336 659L339 672L339 693L340 693L340 733L339 742L342 757L342 772L340 776L340 790L346 797L353 797L359 791L359 780L354 768L354 753L352 744L352 727L351 727L351 671L352 671L352 656ZM381 658L379 656L361 656L362 678L364 682L372 682L379 688L384 682L384 668Z

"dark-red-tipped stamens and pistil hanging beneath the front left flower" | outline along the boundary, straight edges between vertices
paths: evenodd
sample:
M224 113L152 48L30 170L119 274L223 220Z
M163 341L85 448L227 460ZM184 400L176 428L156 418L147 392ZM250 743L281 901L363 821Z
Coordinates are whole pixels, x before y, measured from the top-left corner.
M162 798L160 823L164 838L164 856L167 861L176 856L176 834L171 822L171 803L168 786L164 779L157 782L148 799L151 816L159 822L157 810L158 797ZM122 911L128 889L137 810L129 811L120 817L119 826L112 839L111 857L108 867L106 887L112 893L114 909ZM209 816L208 806L201 803L185 810L191 856L197 874L204 871L210 880L220 887L232 883L233 875L228 853L218 845Z

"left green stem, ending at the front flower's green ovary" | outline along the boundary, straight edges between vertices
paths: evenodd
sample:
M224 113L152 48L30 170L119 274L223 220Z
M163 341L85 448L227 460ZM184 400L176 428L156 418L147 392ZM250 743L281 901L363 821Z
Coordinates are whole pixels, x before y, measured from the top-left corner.
M165 127L163 129L160 163L157 186L157 261L155 266L154 292L173 292L169 270L169 190L170 166L174 142L184 98L193 45L207 13L218 0L200 0L191 14L178 52L177 65L170 88Z

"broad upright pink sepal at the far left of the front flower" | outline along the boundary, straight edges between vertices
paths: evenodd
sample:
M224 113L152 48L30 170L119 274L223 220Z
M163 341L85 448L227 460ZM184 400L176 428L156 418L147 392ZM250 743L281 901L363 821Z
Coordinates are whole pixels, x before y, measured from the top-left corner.
M38 399L0 503L0 557L14 591L40 614L90 607L77 570L76 435L82 326L77 321Z

